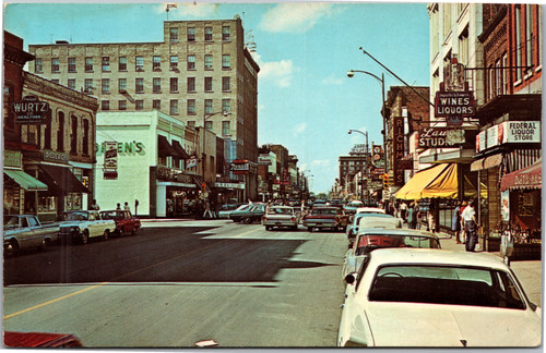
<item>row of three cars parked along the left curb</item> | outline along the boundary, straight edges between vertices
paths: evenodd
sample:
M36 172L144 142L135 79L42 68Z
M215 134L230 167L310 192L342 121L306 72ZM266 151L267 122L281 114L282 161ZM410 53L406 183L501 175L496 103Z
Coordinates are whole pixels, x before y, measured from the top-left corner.
M43 249L55 243L86 244L92 238L135 234L141 222L129 210L75 210L64 214L60 222L41 224L34 215L7 215L3 218L5 255L22 249Z

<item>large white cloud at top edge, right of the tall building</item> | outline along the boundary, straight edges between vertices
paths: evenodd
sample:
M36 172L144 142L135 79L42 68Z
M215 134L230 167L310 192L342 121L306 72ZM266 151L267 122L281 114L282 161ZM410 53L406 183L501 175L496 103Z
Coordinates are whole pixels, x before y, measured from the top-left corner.
M332 13L333 4L321 2L281 3L268 11L260 27L274 33L301 33Z

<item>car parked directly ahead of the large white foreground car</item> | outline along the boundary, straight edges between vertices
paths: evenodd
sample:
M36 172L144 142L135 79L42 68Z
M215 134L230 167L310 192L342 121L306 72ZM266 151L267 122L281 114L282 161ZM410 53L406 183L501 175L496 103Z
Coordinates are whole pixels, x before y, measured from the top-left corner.
M364 258L370 252L383 247L441 248L441 245L440 239L430 232L414 229L363 229L343 258L342 278L358 272Z

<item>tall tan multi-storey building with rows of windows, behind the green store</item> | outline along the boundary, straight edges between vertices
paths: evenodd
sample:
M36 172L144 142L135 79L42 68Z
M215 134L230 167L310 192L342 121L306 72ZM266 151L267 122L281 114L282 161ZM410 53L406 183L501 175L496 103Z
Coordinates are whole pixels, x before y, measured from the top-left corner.
M29 45L28 51L36 57L31 72L97 97L99 111L155 109L224 137L226 167L235 159L258 160L260 68L245 46L238 16L166 21L157 42L57 41ZM257 175L245 180L254 197Z

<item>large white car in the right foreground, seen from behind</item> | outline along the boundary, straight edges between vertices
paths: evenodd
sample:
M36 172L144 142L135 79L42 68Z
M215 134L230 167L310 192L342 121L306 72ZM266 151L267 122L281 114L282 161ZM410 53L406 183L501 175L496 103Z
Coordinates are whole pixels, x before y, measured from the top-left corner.
M339 346L532 348L541 308L489 253L380 248L346 277Z

